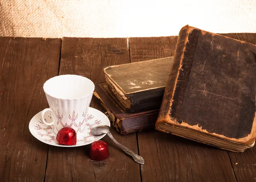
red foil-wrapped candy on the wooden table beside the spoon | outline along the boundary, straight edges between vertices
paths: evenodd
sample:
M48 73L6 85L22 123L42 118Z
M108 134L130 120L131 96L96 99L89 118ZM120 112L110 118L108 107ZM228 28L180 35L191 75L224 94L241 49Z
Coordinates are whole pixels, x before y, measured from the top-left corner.
M103 161L108 159L109 157L109 150L108 144L101 140L95 141L92 143L90 147L90 158L95 161Z

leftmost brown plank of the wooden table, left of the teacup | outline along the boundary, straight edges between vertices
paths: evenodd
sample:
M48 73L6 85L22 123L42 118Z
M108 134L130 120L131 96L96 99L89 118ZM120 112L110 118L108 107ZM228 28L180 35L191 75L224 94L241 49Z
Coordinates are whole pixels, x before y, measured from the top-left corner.
M48 145L29 121L48 107L43 91L58 75L61 39L0 37L0 179L43 181Z

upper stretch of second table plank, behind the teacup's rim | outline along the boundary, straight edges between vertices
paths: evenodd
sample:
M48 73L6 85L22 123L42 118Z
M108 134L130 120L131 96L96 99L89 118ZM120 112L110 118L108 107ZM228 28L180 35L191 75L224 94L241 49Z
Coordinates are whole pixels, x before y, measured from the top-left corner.
M104 81L103 68L129 62L127 38L63 38L60 74Z

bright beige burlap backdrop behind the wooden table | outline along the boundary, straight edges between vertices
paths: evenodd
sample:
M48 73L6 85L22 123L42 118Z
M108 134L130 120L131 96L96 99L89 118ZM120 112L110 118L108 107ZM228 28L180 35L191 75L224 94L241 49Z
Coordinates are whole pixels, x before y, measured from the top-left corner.
M0 36L168 36L186 24L256 32L256 0L0 0Z

